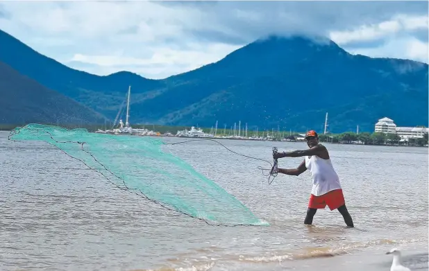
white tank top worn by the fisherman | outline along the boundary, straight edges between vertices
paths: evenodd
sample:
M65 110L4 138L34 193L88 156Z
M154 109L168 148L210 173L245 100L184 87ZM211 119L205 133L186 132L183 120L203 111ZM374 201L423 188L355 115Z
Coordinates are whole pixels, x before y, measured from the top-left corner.
M313 195L323 195L335 189L341 189L339 177L330 159L322 159L317 155L305 156L305 167L311 172Z

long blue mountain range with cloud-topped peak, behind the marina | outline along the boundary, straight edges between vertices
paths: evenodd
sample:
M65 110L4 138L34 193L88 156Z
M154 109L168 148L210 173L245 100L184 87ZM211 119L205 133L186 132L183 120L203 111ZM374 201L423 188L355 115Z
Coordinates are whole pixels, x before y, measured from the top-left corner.
M328 112L331 132L371 132L383 116L428 126L428 64L351 55L330 40L271 36L162 80L76 71L1 31L0 44L0 61L110 119L131 85L131 123L322 130Z

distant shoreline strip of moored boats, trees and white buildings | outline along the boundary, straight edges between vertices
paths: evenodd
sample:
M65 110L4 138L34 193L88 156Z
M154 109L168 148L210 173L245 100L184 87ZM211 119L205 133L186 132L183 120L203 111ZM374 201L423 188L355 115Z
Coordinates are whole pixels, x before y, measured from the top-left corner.
M185 137L185 138L199 138L199 139L236 139L236 140L249 140L249 141L305 141L305 132L280 132L280 127L277 130L274 128L269 130L259 131L258 127L249 131L248 123L242 127L242 122L234 123L230 129L218 128L218 121L216 121L214 128L210 131L204 131L203 128L192 125L189 129L174 130L174 132L159 132L149 130L146 128L133 128L130 124L130 99L131 99L131 86L128 87L128 94L126 96L126 121L122 121L120 116L124 113L124 103L119 108L119 112L113 122L112 128L95 132L101 134L123 134L133 135L140 137ZM119 121L118 121L119 119ZM279 126L279 125L278 125ZM360 132L359 125L357 125L355 132L344 132L343 134L331 134L328 131L328 112L326 112L323 132L319 134L322 142L330 143L348 143L348 144L374 144L374 145L389 145L389 146L428 146L427 134L428 128L424 127L396 127L392 119L383 118L379 119L375 124L374 134L368 132ZM153 128L155 126L153 125ZM207 129L208 130L208 129ZM426 135L425 135L426 134ZM370 139L370 137L372 137Z

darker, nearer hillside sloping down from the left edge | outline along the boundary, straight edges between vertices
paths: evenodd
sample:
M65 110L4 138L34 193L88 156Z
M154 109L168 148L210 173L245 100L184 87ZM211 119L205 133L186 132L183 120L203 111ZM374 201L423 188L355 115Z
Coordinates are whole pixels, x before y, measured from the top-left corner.
M101 123L102 116L0 62L0 122Z

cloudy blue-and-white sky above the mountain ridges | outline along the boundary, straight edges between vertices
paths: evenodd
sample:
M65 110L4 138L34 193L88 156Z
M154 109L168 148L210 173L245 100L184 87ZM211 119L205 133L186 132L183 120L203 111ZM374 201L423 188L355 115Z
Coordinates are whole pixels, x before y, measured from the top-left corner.
M166 78L267 34L428 63L428 1L1 1L0 29L75 69Z

